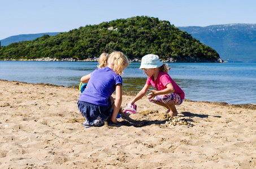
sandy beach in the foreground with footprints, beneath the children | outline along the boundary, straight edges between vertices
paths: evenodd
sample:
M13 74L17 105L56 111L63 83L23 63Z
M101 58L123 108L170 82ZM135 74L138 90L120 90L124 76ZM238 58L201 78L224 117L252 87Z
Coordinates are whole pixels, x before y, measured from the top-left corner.
M138 114L85 128L77 88L1 80L0 95L0 168L256 168L253 104L185 100L178 116L193 127L169 126L144 97Z

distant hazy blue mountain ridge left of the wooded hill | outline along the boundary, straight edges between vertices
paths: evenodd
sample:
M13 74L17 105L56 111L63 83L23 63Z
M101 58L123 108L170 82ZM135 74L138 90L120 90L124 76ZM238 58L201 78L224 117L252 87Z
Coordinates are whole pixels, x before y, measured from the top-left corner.
M21 42L21 41L33 41L36 38L42 37L43 35L47 34L50 36L54 36L59 34L60 32L51 32L51 33L37 33L37 34L20 34L14 35L5 39L0 40L1 46L8 46L14 42Z

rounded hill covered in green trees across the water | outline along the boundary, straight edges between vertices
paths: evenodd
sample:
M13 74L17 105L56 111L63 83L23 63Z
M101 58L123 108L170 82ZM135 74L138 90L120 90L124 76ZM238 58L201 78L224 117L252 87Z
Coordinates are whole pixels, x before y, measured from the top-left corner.
M33 41L11 43L0 47L0 59L84 60L112 51L122 51L130 59L156 54L168 61L219 61L219 54L213 48L200 43L191 34L169 21L147 16L86 25L54 36L43 35Z

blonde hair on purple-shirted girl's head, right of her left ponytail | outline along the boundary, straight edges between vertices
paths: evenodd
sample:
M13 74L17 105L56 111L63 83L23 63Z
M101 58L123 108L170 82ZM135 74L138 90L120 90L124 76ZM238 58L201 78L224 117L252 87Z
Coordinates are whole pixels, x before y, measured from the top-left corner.
M107 64L111 66L114 72L118 75L123 74L123 67L127 67L129 65L129 60L123 54L123 52L112 52L107 59Z

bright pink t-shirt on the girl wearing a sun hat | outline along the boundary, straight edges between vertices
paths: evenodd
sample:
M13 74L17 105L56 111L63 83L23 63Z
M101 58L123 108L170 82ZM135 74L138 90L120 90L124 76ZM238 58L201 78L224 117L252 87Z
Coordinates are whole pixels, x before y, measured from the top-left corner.
M169 74L159 71L158 77L155 81L153 81L154 76L147 77L146 84L152 85L157 91L164 90L166 85L168 83L172 83L172 86L174 87L174 92L175 94L178 94L181 99L185 98L184 91L181 90L181 88L173 81L173 79L170 77Z

